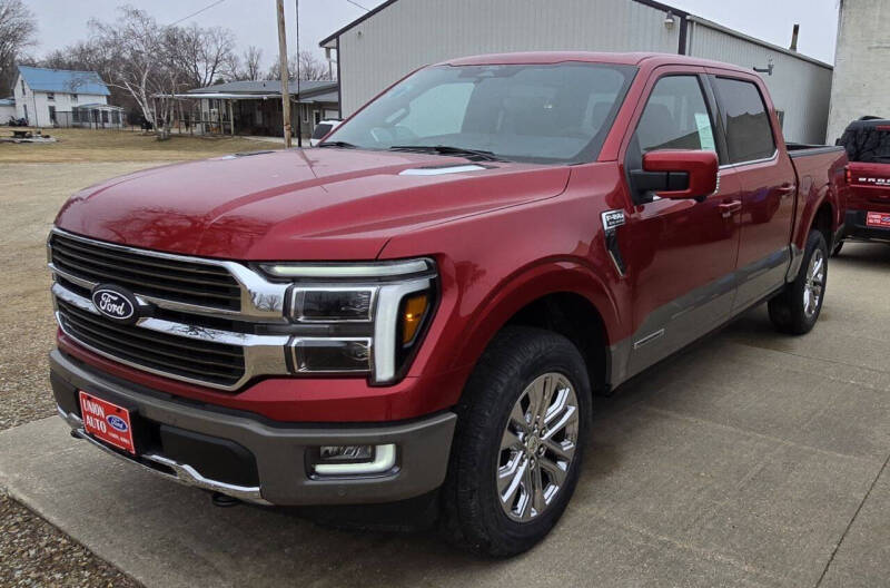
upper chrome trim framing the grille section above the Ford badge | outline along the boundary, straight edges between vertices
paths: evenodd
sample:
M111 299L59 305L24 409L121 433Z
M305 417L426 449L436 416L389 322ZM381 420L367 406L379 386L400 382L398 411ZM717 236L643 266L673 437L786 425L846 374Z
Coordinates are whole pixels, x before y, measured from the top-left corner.
M88 237L81 237L80 235L75 235L58 227L52 227L50 237L52 236L52 234L58 234L66 238L88 243L96 247L105 247L108 249L120 251L123 253L129 253L131 255L145 255L147 257L157 257L161 259L170 259L174 262L222 267L226 271L228 271L229 275L231 275L235 282L238 283L238 286L240 287L241 291L240 311L218 308L212 306L199 306L195 304L176 302L167 298L159 298L156 296L147 296L145 294L135 293L137 297L144 301L148 301L152 304L156 304L161 308L202 314L207 316L217 316L220 318L243 317L245 320L250 320L254 322L256 321L274 322L274 323L286 322L286 318L284 316L284 306L289 284L269 282L257 272L254 272L253 270L239 263L224 261L224 259L212 259L208 257L191 257L187 255L177 255L172 253L161 253L152 249L142 249L138 247L129 247L127 245L118 245L115 243L107 243L105 241L97 241ZM97 282L78 278L77 276L72 276L71 274L62 272L58 267L56 267L52 264L52 253L51 253L52 244L50 243L49 239L47 241L47 247L48 247L47 254L49 257L48 265L53 273L62 276L65 280L70 280L71 282L82 287L92 288L97 285Z

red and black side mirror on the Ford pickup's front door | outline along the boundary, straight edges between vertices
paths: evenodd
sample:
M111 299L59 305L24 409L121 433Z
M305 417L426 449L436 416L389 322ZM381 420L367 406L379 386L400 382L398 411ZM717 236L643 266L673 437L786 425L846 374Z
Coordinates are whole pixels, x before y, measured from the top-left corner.
M718 159L714 151L664 149L643 155L643 169L631 171L639 199L652 196L683 200L704 200L718 187Z

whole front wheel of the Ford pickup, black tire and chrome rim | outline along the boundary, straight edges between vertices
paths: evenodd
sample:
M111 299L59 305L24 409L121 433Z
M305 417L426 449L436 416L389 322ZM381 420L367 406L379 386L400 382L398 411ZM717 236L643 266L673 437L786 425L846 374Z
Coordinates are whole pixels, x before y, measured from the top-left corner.
M443 489L449 539L477 553L530 549L577 483L591 427L584 360L564 336L506 327L467 382Z

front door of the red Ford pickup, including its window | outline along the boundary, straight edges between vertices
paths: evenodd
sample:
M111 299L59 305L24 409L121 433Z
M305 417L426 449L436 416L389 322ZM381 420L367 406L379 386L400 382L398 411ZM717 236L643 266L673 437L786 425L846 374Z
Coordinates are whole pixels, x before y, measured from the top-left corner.
M657 149L711 149L718 144L713 98L703 70L659 70L627 146L627 169ZM680 72L682 71L682 74ZM627 375L708 333L732 311L739 253L740 186L721 174L703 202L659 199L635 207L625 227L632 239L634 329Z

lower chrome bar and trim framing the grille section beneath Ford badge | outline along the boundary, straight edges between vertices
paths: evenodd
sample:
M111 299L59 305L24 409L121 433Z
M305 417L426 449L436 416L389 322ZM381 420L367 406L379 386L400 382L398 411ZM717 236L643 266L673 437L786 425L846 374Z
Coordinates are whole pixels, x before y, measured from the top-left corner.
M101 316L96 307L92 305L92 301L80 296L79 294L67 290L59 283L52 285L52 294L61 301L71 304L72 306L77 306L78 308L92 313L97 316ZM55 304L53 298L53 304ZM191 384L202 385L207 388L212 388L217 390L225 390L227 392L234 392L240 389L248 380L257 376L257 375L290 375L290 371L287 367L287 361L285 359L285 347L287 346L290 337L288 335L255 335L249 333L235 333L230 331L219 331L216 329L206 329L195 325L181 324L181 323L174 323L170 321L164 321L161 318L151 318L151 317L144 317L140 318L136 324L142 329L148 329L150 331L157 331L159 333L165 333L168 335L176 335L186 339L194 339L197 341L207 341L210 343L222 343L229 345L237 345L244 347L244 375L238 379L237 382L226 385L226 384L218 384L215 382L208 382L207 380L200 380L197 378L188 378L185 375L179 375L176 373L167 372L164 370L156 370L154 367L148 367L140 363L131 362L113 355L111 353L103 352L99 349L89 345L77 336L71 334L65 329L65 324L61 320L61 313L56 308L56 322L61 329L62 333L66 336L70 337L71 340L76 341L78 345L89 350L97 355L101 355L102 357L107 357L109 360L116 361L118 363L122 363L136 370L140 370L144 372L152 373L156 375L161 375L164 378L169 378L171 380L178 380L180 382L188 382Z

